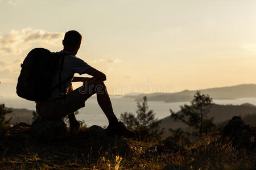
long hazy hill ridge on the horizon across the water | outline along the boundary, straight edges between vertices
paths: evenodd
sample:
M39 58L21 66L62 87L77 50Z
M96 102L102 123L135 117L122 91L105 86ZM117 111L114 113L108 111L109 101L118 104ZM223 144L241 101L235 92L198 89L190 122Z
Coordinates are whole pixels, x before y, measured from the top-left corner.
M240 84L237 86L207 88L199 90L202 94L209 94L215 100L221 99L238 99L244 97L256 97L256 84ZM191 101L196 90L184 90L176 93L153 93L125 95L124 97L141 100L147 96L149 101L181 102Z

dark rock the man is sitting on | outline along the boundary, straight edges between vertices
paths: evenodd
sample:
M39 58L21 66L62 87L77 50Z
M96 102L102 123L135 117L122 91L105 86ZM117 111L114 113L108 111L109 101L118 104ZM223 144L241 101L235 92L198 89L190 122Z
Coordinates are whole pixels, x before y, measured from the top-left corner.
M61 119L37 118L31 125L30 134L43 141L61 139L68 136L68 129Z

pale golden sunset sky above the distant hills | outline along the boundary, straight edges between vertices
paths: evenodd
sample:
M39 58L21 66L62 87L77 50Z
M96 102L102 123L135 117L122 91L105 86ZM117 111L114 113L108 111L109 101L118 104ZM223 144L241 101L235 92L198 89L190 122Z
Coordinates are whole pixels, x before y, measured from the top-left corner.
M253 0L0 0L0 96L16 97L31 49L62 50L71 29L82 35L77 57L106 74L110 95L256 83L255 8Z

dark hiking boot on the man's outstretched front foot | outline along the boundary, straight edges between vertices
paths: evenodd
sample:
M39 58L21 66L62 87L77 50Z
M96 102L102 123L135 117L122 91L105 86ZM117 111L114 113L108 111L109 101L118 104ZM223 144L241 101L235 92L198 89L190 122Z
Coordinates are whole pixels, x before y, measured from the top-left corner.
M109 122L109 126L106 129L109 134L118 135L125 138L133 138L135 136L133 131L128 130L123 122Z

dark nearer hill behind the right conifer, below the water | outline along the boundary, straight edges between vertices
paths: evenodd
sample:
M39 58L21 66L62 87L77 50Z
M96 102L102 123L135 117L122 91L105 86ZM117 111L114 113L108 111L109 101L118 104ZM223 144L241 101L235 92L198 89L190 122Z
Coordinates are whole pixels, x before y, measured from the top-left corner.
M179 112L178 112L179 114ZM256 114L256 106L253 104L242 105L219 105L214 104L210 109L208 117L214 117L214 124L221 124L222 122L230 120L233 116L245 116L247 114ZM188 126L182 122L174 122L170 116L163 118L160 122L160 128L165 128L165 136L170 135L169 128L172 129L187 129Z

